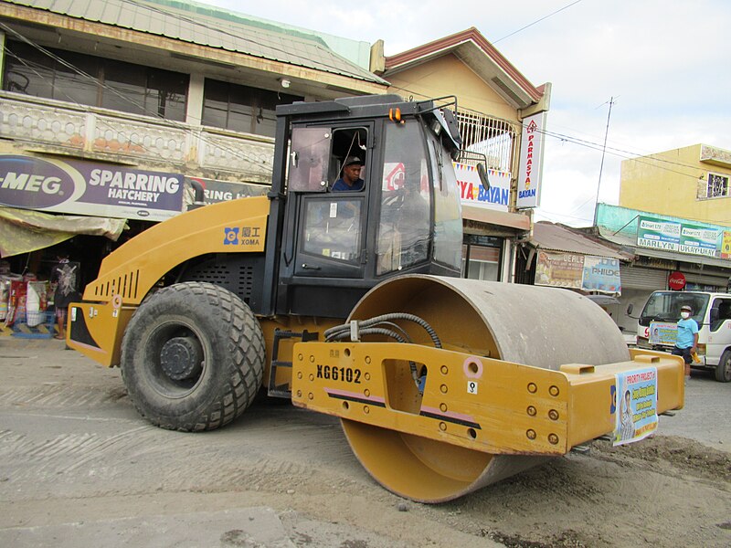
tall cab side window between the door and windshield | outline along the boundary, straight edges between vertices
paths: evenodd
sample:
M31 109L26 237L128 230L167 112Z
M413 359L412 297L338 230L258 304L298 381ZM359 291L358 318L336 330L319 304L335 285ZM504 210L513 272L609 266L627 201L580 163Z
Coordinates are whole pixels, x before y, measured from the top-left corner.
M376 273L429 258L431 192L418 121L386 126Z

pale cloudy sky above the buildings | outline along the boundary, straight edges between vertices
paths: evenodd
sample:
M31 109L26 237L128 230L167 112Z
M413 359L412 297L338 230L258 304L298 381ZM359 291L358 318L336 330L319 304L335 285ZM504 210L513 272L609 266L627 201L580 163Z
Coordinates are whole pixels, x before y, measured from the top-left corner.
M197 1L383 39L387 56L476 27L535 86L552 84L536 220L591 226L598 196L619 203L622 160L700 142L731 150L728 0Z

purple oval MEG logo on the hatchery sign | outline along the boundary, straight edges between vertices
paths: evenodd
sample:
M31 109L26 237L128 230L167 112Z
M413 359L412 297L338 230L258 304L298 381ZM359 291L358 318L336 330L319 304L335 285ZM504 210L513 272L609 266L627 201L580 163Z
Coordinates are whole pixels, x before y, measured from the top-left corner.
M74 191L71 176L57 165L26 156L0 156L0 204L49 207Z

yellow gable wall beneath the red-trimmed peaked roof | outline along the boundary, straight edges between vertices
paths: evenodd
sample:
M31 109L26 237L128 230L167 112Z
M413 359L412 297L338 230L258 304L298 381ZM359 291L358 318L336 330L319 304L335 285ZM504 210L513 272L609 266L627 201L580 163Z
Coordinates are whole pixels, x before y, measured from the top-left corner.
M451 54L389 74L387 79L392 84L389 93L406 98L413 96L417 100L456 95L461 109L518 121L518 112Z

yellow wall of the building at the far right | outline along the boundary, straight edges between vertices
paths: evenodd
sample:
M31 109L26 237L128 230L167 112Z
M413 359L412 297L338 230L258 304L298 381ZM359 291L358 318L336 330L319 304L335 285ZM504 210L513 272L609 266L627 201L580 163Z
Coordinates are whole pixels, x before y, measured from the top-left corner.
M623 161L620 206L731 225L731 197L705 198L708 173L726 175L731 182L731 163L702 162L702 147L695 144Z

